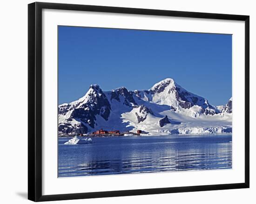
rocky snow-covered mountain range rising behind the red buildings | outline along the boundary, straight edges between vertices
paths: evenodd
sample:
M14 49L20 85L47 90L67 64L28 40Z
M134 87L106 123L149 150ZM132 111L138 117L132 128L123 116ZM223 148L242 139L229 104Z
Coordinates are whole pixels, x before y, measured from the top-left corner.
M232 99L220 111L169 78L149 90L120 87L103 92L100 86L91 85L82 98L59 105L59 132L63 134L101 128L158 134L220 133L231 132L231 121Z

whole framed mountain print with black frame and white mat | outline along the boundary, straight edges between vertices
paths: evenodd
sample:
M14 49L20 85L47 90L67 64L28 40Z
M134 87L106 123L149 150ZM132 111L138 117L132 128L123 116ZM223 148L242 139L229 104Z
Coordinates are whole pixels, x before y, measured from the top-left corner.
M249 188L249 16L28 5L28 199Z

